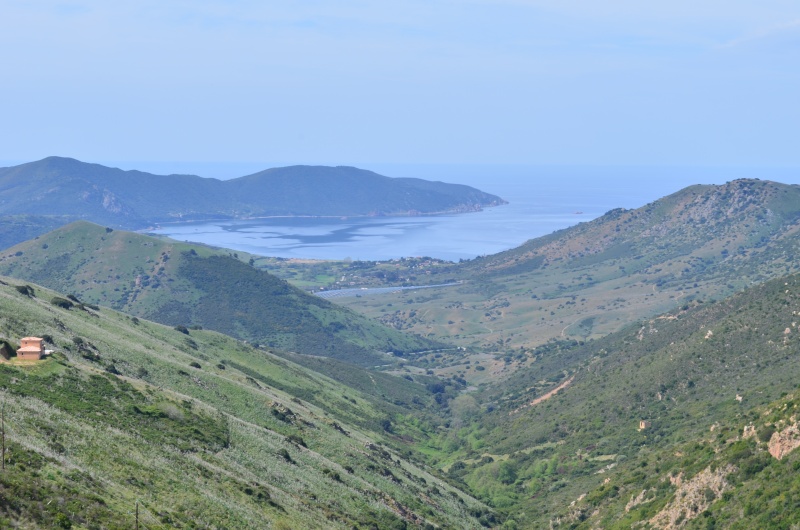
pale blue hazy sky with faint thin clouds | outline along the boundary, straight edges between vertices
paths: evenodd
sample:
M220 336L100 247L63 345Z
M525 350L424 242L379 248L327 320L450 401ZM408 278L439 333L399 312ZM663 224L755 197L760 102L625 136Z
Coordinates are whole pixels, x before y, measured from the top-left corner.
M798 0L3 0L0 160L800 167Z

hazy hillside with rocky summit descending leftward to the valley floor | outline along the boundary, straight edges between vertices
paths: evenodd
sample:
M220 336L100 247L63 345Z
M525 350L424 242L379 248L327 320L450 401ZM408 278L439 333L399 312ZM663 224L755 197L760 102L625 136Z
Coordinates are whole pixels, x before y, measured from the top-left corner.
M432 271L467 280L463 287L337 303L398 329L498 351L550 338L598 338L642 315L723 298L798 270L799 221L798 186L692 186Z

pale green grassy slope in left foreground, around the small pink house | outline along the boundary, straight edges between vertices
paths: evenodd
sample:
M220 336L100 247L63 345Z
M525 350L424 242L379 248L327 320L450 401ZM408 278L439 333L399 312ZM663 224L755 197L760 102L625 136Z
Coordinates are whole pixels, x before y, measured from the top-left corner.
M130 528L137 500L147 528L461 528L487 513L368 445L389 436L370 396L215 332L62 309L19 283L0 284L0 337L45 335L56 353L0 365L2 525Z

